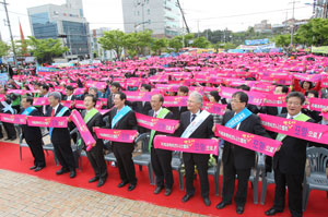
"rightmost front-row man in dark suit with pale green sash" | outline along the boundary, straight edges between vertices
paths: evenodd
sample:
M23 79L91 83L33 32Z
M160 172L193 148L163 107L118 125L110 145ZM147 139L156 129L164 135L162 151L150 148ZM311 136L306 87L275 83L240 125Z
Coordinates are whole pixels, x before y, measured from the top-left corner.
M288 113L279 117L286 119L295 119L300 121L314 122L313 119L302 113L302 107L305 97L300 92L290 93L286 98ZM289 190L289 209L292 216L302 216L302 198L303 198L303 179L306 161L307 141L292 137L289 135L278 134L277 138L282 142L280 149L276 150L273 156L274 170L274 201L273 206L265 214L273 216L282 213L285 201L285 185Z

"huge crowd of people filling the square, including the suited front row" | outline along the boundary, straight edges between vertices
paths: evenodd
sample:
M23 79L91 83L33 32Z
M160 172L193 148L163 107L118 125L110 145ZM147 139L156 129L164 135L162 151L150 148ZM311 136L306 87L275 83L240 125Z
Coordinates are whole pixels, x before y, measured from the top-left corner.
M324 147L326 145L267 131L258 113L326 125L328 120L320 116L320 111L311 109L309 100L318 97L327 98L327 88L324 85L327 67L327 58L297 53L293 59L281 53L207 53L174 58L155 57L142 61L117 61L104 65L83 65L62 69L60 72L39 73L38 76L13 76L0 89L1 97L3 97L0 109L3 113L12 114L68 117L68 128L52 128L48 131L55 147L55 155L61 166L56 173L58 176L70 173L70 178L77 176L77 162L71 144L85 146L79 133L78 136L70 135L75 125L69 117L71 111L77 109L96 141L86 154L94 170L94 176L89 182L97 181L97 186L106 183L108 172L104 159L104 149L107 147L104 141L97 137L95 129L138 130L139 135L149 133L151 165L156 177L154 194L165 189L166 196L171 195L174 185L173 150L155 148L154 137L171 135L209 138L218 141L219 145L220 137L215 136L215 124L226 125L246 109L250 113L236 121L233 129L282 142L273 158L266 157L266 171L274 171L276 190L273 205L265 214L272 216L283 212L288 188L289 209L292 216L302 216L302 184L306 148L309 145ZM301 73L311 79L300 76ZM225 97L224 88L227 87L236 89L231 97ZM82 89L82 93L78 89ZM148 93L150 98L149 100L128 100L131 92ZM265 106L266 98L261 104L254 104L251 93L255 92L262 93L263 96L284 96L285 106ZM187 97L187 103L165 106L167 96ZM47 97L49 104L34 106L38 97ZM84 108L77 107L79 100L83 100ZM62 101L69 103L65 104L69 106L63 106ZM214 105L225 105L226 110L210 113L203 109L204 103L209 101ZM324 108L323 112L327 110ZM175 119L178 120L178 124L173 134L145 129L138 124L136 113ZM2 125L8 136L5 140L15 140L14 124L2 121ZM21 125L21 128L23 137L35 159L30 169L39 171L46 167L43 132L37 126ZM2 129L0 137L3 137ZM243 214L247 197L247 183L250 170L255 167L256 153L226 141L221 141L220 145L223 146L223 192L222 202L216 205L216 208L222 209L234 200L236 213ZM132 160L134 147L133 143L121 142L113 142L110 146L120 177L117 186L124 188L128 184L128 191L134 190L138 183ZM186 179L186 194L181 201L186 203L195 195L194 178L195 168L197 168L203 203L210 206L208 168L212 156L187 152L181 156ZM214 158L218 159L215 156ZM238 184L234 196L235 179L238 180Z

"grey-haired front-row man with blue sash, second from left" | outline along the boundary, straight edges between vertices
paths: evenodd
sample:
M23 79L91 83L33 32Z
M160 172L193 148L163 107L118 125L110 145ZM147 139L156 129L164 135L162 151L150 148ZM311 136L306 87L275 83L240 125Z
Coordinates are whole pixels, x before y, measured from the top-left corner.
M47 117L69 117L70 110L60 104L61 95L58 92L49 94L49 105ZM61 169L56 174L63 174L70 172L70 178L77 176L75 160L71 148L71 136L68 128L49 129L50 141L55 148L56 157L61 165Z

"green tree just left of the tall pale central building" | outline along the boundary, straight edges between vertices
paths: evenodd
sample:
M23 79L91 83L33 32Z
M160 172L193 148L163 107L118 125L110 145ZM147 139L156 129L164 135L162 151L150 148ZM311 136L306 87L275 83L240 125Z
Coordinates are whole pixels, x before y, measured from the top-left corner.
M115 50L116 58L120 60L125 47L125 33L121 31L108 31L98 39L104 50Z

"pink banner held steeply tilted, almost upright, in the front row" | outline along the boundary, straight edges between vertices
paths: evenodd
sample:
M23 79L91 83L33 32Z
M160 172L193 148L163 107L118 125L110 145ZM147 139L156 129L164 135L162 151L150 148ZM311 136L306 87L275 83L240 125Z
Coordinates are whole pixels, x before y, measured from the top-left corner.
M79 113L79 111L73 110L71 112L70 119L74 122L74 124L77 125L81 137L83 138L85 146L86 146L86 150L91 150L91 148L95 145L95 140L93 138L92 134L90 133L85 122L83 121L81 114Z

